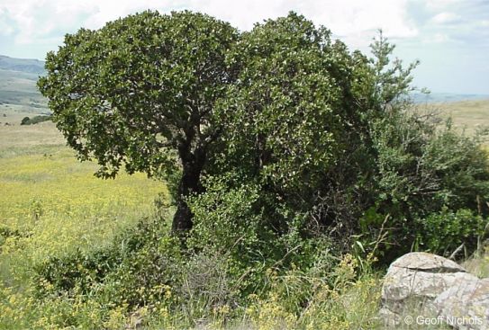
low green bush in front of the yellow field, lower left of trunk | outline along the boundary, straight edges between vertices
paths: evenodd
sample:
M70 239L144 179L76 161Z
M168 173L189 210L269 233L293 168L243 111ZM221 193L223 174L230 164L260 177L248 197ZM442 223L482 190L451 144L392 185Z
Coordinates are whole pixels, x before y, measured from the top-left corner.
M140 304L145 301L141 287L150 289L171 279L173 262L168 258L175 257L178 245L165 231L158 222L141 220L104 249L76 251L34 265L38 295L90 295L110 288L113 294L107 297L113 303Z

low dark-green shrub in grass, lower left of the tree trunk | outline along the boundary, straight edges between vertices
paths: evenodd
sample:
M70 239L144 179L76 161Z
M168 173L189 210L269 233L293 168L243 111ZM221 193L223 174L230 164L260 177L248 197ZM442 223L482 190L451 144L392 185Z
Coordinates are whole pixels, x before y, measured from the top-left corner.
M144 269L158 266L154 260L158 254L151 252L161 243L163 230L156 221L143 219L137 227L127 229L107 247L89 252L77 250L35 264L34 283L37 283L39 295L86 295L107 281L117 281L122 287L132 285L129 283L132 279L123 277L125 271L134 277L135 282L141 281L138 285L144 284ZM124 298L128 291L121 288L121 300L134 299Z

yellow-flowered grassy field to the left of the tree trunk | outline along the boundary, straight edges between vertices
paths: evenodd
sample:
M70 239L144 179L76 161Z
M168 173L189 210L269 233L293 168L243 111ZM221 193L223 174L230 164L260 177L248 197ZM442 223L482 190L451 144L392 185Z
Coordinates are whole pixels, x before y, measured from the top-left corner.
M22 117L8 112L14 126L0 126L0 329L25 328L35 309L25 310L34 264L111 242L168 194L143 174L95 178L96 165L79 163L52 122L20 126Z

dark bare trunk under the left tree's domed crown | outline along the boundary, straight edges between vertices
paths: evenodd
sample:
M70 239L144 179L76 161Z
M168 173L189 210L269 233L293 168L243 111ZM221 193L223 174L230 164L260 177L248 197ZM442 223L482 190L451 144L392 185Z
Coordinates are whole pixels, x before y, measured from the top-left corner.
M200 175L205 163L203 148L197 148L192 153L188 148L181 147L179 155L183 165L183 173L180 183L178 183L177 211L172 223L174 233L182 233L192 228L194 215L186 203L186 198L202 191Z

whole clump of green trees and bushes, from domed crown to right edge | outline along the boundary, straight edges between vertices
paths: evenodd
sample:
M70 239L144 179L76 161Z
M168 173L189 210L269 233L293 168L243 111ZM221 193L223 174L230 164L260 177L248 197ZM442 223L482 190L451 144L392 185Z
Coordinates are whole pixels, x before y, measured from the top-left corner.
M239 32L201 13L144 12L67 35L39 86L98 175L177 177L174 231L254 219L344 238L385 225L405 246L444 208L486 212L489 174L475 141L412 111L416 63L393 50L380 34L374 58L351 52L296 13Z

